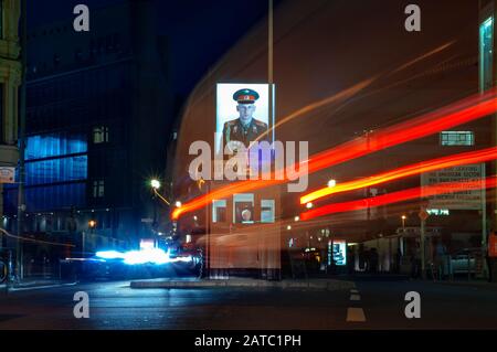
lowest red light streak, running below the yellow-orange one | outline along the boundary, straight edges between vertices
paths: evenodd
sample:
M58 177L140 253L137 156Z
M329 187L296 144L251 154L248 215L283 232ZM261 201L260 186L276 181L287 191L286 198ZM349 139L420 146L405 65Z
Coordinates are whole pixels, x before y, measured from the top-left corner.
M484 184L482 184L484 183ZM363 210L367 207L376 207L380 205L387 205L392 203L399 203L404 201L410 201L414 199L419 199L423 196L431 196L436 194L445 194L445 193L456 193L462 192L467 189L482 189L495 188L497 184L497 177L488 177L482 182L482 180L476 181L467 181L467 182L444 182L436 183L432 185L426 185L423 189L421 186L413 188L409 190L403 190L399 192L392 192L389 194L378 195L374 198L362 199L358 201L343 202L343 203L334 203L325 206L317 207L315 210L305 212L300 214L300 220L307 221L318 216L335 214L335 213L343 213L343 212L353 212Z

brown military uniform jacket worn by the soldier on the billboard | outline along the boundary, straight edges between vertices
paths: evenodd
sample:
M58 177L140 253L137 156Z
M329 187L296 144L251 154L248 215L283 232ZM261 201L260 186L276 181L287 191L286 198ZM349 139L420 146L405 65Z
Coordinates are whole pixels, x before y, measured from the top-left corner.
M230 141L241 141L248 148L252 141L255 141L258 136L267 131L267 124L252 118L247 127L244 127L240 118L224 124L223 128L223 146L225 147ZM268 134L264 135L257 141L268 141Z

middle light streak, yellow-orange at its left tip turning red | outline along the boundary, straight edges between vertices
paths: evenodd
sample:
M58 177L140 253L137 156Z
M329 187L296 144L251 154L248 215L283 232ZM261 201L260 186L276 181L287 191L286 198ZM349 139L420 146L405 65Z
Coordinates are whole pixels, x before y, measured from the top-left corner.
M415 164L410 164L391 171L382 172L369 178L343 182L341 184L335 185L334 188L327 186L319 189L317 191L314 191L311 193L302 196L300 204L306 204L308 202L321 199L330 194L353 191L380 183L385 183L389 181L412 177L423 172L430 172L434 170L470 163L485 162L495 159L497 159L497 147L426 160Z

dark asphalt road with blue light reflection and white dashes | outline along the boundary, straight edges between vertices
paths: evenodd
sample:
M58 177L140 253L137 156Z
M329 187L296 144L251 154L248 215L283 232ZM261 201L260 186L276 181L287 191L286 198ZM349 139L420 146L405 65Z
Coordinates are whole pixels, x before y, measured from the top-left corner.
M0 329L495 329L497 290L421 281L358 281L356 290L131 289L96 282L0 296ZM76 291L89 318L76 319ZM408 319L404 296L421 295ZM363 320L363 321L361 321Z

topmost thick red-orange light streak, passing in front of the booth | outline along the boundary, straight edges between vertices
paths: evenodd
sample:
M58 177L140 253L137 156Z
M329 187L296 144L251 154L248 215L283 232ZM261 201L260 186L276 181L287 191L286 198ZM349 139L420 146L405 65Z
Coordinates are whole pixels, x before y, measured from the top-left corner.
M485 94L473 95L433 113L422 115L384 129L376 130L369 134L368 137L356 138L335 148L330 148L310 157L309 160L304 162L307 163L307 172L314 173L379 150L451 129L455 126L483 118L495 111L497 111L496 90L489 89ZM294 166L287 167L286 170L293 171ZM304 171L300 170L305 170L305 168L295 170L294 177L302 177L300 173ZM288 172L285 172L285 175L287 174ZM179 216L184 213L201 209L213 200L223 199L233 193L250 192L274 184L286 183L289 180L286 177L284 180L275 180L275 178L272 177L271 180L236 182L182 204L181 207L176 209L172 212L171 218L178 220Z

